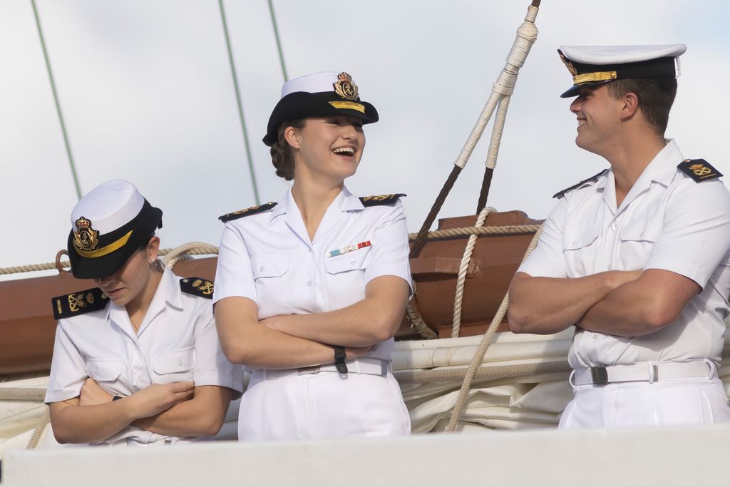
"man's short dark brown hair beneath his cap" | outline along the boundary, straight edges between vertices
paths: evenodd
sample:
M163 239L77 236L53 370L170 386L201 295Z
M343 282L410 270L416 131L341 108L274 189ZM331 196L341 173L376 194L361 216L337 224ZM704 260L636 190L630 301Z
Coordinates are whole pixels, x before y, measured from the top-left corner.
M658 135L664 137L666 124L669 123L669 110L677 94L675 78L615 80L608 83L608 91L614 99L626 93L636 93L645 120Z

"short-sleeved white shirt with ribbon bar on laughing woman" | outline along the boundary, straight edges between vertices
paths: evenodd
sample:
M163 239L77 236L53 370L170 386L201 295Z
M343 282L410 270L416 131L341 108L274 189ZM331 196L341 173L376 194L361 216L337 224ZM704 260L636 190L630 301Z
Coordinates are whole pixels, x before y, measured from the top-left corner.
M331 250L371 242L338 256ZM364 207L342 188L312 241L291 190L272 210L228 221L220 238L213 302L242 296L258 319L339 310L365 299L375 277L394 275L410 286L408 230L403 206ZM393 339L367 356L391 359Z

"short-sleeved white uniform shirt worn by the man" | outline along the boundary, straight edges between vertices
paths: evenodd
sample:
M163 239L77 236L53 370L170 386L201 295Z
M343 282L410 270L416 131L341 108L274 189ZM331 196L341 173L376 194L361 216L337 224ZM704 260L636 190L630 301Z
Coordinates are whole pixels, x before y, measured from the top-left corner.
M702 287L675 323L655 333L616 337L577 329L572 367L720 361L729 313L730 193L721 180L696 183L680 172L683 160L675 142L667 141L618 208L612 171L569 191L520 266L520 272L542 277L665 269Z

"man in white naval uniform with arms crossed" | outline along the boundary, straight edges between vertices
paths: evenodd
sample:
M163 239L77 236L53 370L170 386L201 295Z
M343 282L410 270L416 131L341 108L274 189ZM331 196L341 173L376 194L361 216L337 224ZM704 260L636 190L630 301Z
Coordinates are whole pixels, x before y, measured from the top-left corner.
M560 426L730 421L717 369L730 294L730 194L664 139L684 45L561 47L576 144L610 169L556 194L510 286L510 329L575 325Z

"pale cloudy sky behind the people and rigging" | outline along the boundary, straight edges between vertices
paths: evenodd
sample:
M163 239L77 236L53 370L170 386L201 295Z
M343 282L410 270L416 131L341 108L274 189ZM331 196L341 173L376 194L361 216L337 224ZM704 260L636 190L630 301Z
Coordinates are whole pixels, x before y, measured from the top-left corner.
M522 0L274 0L289 77L346 71L380 112L365 128L361 196L406 193L417 231L522 23ZM214 0L37 0L82 193L123 178L164 212L164 248L218 245L218 215L255 204ZM288 184L261 142L284 81L266 0L224 1L262 202ZM488 205L545 218L550 197L607 166L575 146L560 45L684 43L666 137L730 177L725 0L543 0ZM77 202L29 0L0 1L0 267L53 261ZM439 217L475 211L489 131ZM15 277L31 277L16 275Z

